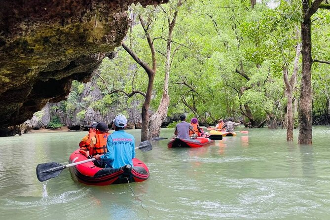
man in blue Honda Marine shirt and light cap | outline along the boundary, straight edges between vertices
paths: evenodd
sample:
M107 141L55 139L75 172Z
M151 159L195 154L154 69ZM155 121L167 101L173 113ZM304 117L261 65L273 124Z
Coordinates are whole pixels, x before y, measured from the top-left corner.
M108 152L103 155L95 155L96 160L106 163L106 168L118 169L125 165L133 167L132 159L135 157L134 136L124 131L127 119L119 114L113 119L114 132L109 135L107 140Z

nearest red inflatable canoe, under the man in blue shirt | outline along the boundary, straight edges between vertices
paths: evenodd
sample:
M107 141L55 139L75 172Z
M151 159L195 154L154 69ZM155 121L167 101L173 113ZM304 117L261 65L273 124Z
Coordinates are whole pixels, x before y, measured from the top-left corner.
M87 158L75 150L69 158L69 163L79 162ZM70 167L70 172L80 183L88 185L110 185L119 183L142 182L149 178L149 170L141 160L133 159L133 169L129 166L120 169L100 168L93 161Z

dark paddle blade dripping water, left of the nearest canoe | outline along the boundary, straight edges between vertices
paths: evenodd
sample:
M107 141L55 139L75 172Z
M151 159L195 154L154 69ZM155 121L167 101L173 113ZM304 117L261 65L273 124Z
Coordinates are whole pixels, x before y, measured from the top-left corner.
M36 169L37 178L40 182L49 180L60 175L65 168L65 165L55 162L38 164Z

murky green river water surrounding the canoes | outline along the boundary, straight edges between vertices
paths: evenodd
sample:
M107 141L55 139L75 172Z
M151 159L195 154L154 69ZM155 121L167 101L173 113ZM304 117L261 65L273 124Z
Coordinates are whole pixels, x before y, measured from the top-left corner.
M87 132L0 138L0 220L329 219L330 128L313 128L312 147L296 144L297 130L293 143L285 129L248 131L208 147L152 142L136 151L150 178L109 186L74 182L69 169L37 180L37 164L66 164ZM128 132L139 144L141 131Z

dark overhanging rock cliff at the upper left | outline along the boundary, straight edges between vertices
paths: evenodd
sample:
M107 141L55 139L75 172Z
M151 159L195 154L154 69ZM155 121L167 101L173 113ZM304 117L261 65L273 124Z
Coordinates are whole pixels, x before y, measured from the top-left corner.
M0 0L0 127L64 100L125 37L132 3L168 0Z

